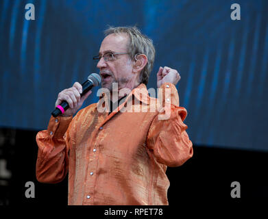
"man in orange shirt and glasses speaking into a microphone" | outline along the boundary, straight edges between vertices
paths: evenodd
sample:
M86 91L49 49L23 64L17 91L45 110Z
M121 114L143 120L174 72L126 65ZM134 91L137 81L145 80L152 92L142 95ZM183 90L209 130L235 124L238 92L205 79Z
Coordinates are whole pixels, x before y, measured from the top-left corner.
M36 177L58 183L69 171L69 205L168 205L167 166L184 164L193 147L175 88L178 71L159 68L160 104L147 92L154 54L151 40L136 27L110 27L94 57L101 86L109 92L74 117L91 92L80 98L82 86L75 82L58 94L56 105L67 101L70 108L51 117L48 129L36 136ZM111 104L100 112L105 98ZM114 103L119 103L115 110ZM132 103L131 112L121 112L126 103ZM141 105L146 112L133 112ZM167 112L168 118L160 118Z

